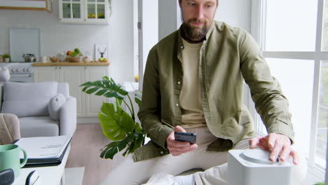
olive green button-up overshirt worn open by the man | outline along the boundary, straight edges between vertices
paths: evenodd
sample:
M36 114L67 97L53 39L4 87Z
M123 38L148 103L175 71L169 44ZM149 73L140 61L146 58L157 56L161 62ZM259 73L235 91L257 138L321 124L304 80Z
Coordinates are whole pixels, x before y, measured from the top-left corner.
M168 154L166 138L181 124L179 95L184 83L184 45L180 32L181 28L149 52L138 116L151 142L135 152L135 161ZM287 99L250 34L214 21L200 48L198 69L205 121L218 137L207 151L227 151L242 137L254 134L252 116L242 104L244 80L268 133L281 133L293 141Z

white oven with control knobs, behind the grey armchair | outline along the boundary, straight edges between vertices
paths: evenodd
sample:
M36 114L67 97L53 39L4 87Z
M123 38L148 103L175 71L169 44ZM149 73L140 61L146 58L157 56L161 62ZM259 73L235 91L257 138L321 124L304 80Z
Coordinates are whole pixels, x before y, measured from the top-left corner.
M8 67L11 82L33 83L34 81L32 63L1 63L0 67Z

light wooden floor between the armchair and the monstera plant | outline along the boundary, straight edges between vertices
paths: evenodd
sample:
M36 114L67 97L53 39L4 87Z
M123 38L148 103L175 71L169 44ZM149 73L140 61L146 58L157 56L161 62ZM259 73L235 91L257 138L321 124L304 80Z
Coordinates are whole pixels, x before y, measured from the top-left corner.
M100 184L111 171L112 160L100 158L100 149L108 143L99 123L77 124L66 167L85 167L83 185Z

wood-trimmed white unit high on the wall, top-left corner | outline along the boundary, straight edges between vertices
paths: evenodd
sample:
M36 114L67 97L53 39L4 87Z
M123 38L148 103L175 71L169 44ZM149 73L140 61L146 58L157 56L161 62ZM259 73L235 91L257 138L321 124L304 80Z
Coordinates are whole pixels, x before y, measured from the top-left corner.
M0 9L51 11L51 0L1 0Z

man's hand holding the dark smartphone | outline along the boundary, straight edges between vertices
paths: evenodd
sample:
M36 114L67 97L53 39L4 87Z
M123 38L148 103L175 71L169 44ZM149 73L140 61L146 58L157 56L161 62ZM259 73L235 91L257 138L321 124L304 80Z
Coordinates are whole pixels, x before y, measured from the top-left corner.
M168 144L168 150L172 156L180 156L182 153L187 153L197 149L197 144L190 144L189 142L179 142L175 140L175 132L186 132L181 126L176 126L175 129L166 138L166 144Z

